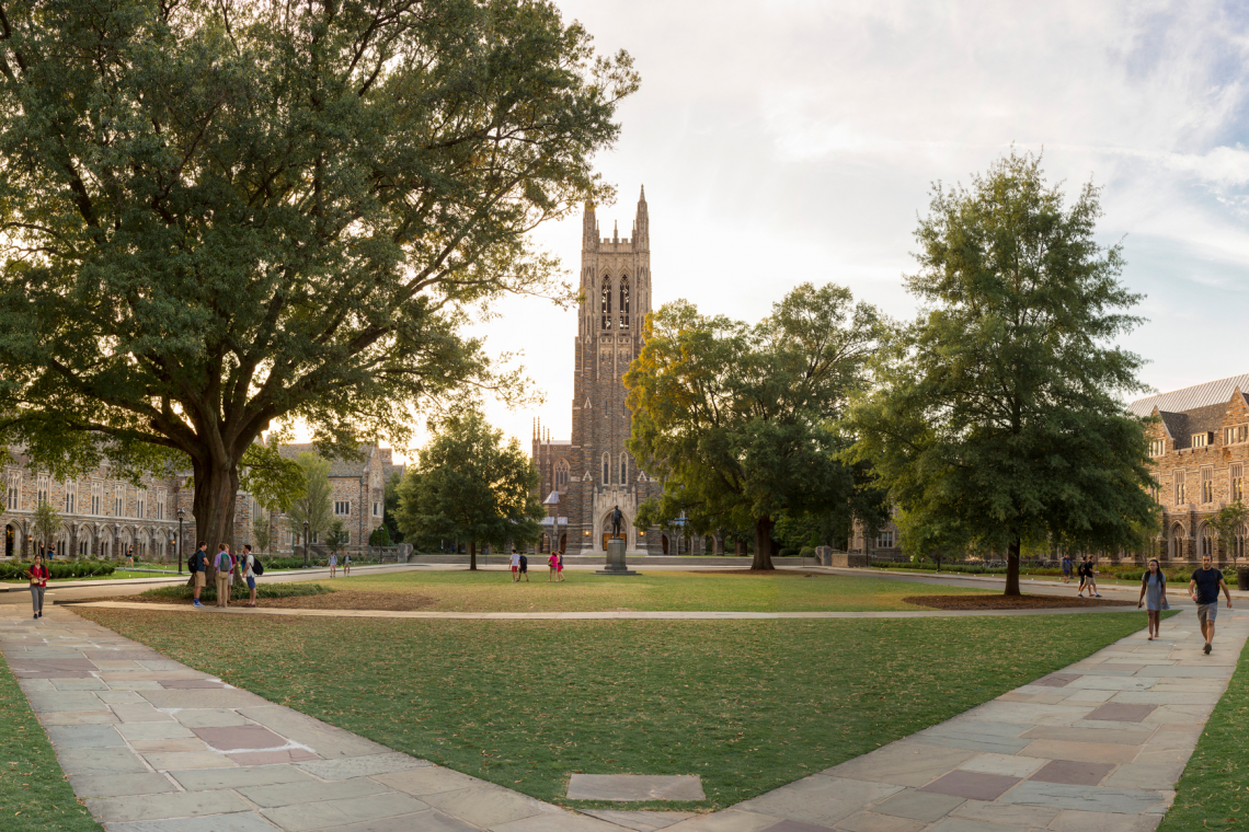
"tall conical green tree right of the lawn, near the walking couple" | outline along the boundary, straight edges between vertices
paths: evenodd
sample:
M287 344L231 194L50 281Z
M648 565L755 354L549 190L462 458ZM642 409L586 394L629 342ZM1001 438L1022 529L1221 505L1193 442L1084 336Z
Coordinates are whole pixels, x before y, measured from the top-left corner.
M874 363L852 409L856 455L902 509L914 551L1005 551L1019 593L1029 541L1132 546L1155 526L1143 424L1122 404L1140 358L1113 346L1139 318L1120 247L1095 239L1099 192L1069 207L1040 158L936 186L907 288L923 312Z

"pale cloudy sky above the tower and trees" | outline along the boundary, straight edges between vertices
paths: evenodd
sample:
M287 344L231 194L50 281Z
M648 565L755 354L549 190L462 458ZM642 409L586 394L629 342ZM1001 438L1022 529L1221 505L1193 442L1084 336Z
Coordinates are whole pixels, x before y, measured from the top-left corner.
M1102 188L1098 236L1147 323L1120 343L1170 390L1249 372L1249 12L1233 2L562 0L602 52L627 50L641 90L596 165L620 190L597 211L628 236L651 216L656 308L686 298L757 321L803 282L848 286L896 318L934 182L1043 152L1052 182ZM535 244L570 279L581 218ZM512 299L482 327L540 408L487 403L528 448L541 417L571 430L576 312Z

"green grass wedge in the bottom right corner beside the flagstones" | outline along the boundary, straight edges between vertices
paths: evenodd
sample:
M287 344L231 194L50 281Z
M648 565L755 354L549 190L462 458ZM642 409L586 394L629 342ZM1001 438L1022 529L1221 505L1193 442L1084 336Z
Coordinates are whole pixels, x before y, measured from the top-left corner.
M1215 642L1218 646L1218 642ZM1249 830L1249 665L1240 651L1237 671L1214 707L1175 788L1175 802L1158 832Z

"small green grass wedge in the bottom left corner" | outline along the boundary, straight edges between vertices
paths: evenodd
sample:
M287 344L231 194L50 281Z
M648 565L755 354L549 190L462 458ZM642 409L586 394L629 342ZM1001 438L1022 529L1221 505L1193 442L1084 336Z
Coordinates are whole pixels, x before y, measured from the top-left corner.
M47 735L0 656L0 828L102 832L77 802Z

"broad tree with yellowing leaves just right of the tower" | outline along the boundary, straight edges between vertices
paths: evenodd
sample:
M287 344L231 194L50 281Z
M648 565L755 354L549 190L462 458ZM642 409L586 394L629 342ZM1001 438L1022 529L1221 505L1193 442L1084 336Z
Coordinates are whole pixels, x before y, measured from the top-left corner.
M839 425L878 346L876 308L807 283L753 326L678 301L646 327L624 374L628 448L663 494L639 506L639 526L684 514L697 533L753 528L753 568L772 569L778 513L849 510Z

